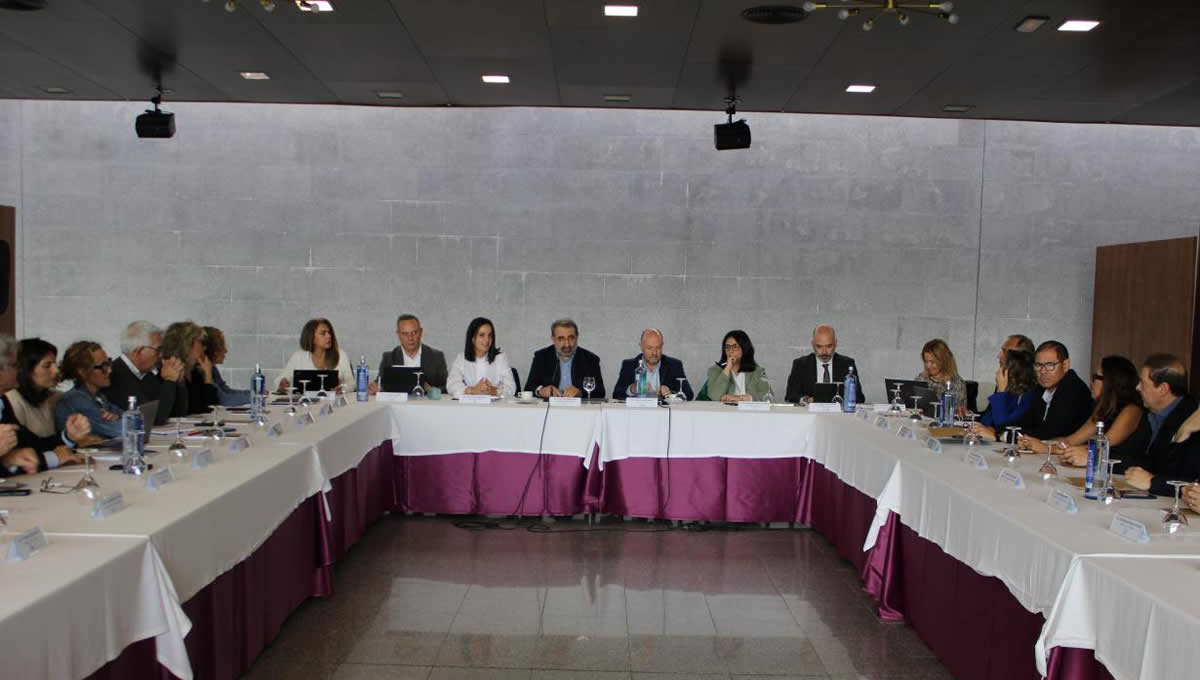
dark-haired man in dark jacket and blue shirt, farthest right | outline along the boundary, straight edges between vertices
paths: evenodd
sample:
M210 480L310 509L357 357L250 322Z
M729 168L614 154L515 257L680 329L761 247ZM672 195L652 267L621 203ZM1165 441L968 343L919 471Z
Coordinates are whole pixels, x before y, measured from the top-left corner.
M1196 410L1196 401L1188 395L1183 362L1170 354L1150 355L1141 366L1138 391L1150 422L1150 447L1134 461L1122 461L1115 470L1124 470L1126 483L1133 488L1175 495L1166 482L1190 482L1200 474L1200 438L1174 443L1176 431Z

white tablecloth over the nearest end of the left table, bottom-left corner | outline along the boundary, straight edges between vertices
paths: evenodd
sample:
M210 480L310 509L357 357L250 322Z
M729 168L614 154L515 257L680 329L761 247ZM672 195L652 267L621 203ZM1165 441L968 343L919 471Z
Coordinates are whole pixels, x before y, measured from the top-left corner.
M7 552L5 536L0 549ZM2 559L2 556L0 556ZM158 662L191 680L191 622L145 538L49 535L25 561L0 561L0 669L5 678L74 680L154 638Z

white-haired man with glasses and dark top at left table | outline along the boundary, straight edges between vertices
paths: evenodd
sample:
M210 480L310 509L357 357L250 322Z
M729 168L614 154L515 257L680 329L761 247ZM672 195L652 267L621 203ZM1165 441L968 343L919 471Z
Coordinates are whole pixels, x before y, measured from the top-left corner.
M182 375L182 361L162 359L162 329L133 321L121 333L121 356L113 362L104 396L121 409L128 405L130 396L138 398L138 405L158 402L155 425L167 425L175 402L187 398Z

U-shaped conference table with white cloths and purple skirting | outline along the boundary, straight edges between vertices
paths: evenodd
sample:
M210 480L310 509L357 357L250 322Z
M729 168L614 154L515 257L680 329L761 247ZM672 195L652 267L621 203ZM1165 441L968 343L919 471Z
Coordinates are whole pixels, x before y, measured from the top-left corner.
M1162 499L1102 506L1068 470L1043 481L1042 457L967 456L870 405L272 410L277 428L236 423L245 438L197 437L181 457L154 437L154 480L95 473L100 510L78 493L2 499L0 549L34 528L47 537L0 562L6 672L235 678L304 600L335 595L332 566L389 511L803 524L959 678L1178 678L1200 661L1200 531L1165 534Z

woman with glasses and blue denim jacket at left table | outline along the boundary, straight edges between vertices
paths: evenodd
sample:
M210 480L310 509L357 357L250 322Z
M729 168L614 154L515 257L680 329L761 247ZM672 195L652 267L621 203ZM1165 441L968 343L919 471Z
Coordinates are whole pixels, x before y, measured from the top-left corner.
M120 437L125 409L109 402L102 392L113 377L113 360L104 354L104 348L91 341L72 344L62 355L62 373L74 380L74 387L54 407L55 426L64 429L72 415L82 414L91 423L92 434L104 439Z

